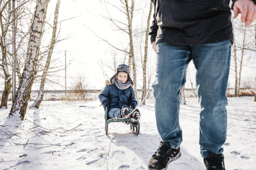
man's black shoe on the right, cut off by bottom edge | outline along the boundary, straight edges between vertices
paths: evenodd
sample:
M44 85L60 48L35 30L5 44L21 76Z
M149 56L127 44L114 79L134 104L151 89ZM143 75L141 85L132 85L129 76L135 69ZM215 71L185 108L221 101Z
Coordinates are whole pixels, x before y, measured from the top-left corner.
M225 170L224 155L208 152L207 158L203 159L207 170Z

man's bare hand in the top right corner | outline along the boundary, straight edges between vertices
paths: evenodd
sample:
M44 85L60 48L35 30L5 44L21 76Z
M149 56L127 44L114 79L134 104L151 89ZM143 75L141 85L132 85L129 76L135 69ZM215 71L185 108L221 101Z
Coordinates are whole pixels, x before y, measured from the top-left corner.
M233 6L234 18L241 13L241 22L249 26L256 19L256 5L250 0L237 0Z

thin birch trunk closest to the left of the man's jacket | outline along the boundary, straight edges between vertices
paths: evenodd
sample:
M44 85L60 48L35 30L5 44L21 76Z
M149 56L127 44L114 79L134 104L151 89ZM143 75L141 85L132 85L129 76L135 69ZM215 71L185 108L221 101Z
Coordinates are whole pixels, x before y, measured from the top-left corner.
M142 104L145 105L146 103L146 91L147 91L147 59L148 59L148 33L149 33L149 24L150 24L150 17L152 13L152 2L150 1L150 7L148 12L147 18L147 30L146 30L146 38L145 38L145 47L144 47L144 60L143 60L143 87L142 87ZM145 100L144 100L145 98Z

